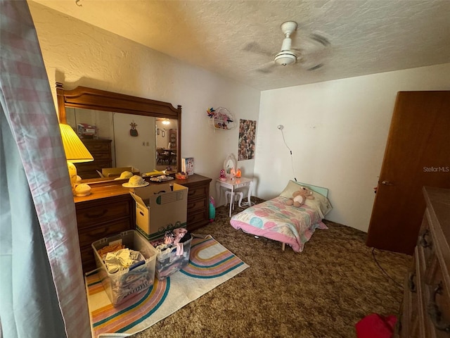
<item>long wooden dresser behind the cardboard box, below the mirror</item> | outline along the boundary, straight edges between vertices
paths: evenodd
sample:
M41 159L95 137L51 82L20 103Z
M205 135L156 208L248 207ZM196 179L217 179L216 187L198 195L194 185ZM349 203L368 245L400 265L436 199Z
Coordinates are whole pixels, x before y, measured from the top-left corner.
M187 180L173 180L188 187L187 228L189 231L210 222L210 182L201 175L191 175ZM153 183L150 183L153 184ZM158 183L156 183L158 184ZM121 184L91 184L91 194L74 197L77 211L79 249L83 272L96 268L91 244L136 227L136 207L129 189Z

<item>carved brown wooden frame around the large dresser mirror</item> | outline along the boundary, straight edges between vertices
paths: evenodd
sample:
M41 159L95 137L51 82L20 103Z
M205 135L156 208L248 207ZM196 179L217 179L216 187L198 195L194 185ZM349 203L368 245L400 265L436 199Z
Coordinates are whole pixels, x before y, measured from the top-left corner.
M176 147L176 172L181 171L181 106L176 108L169 102L144 99L137 96L107 92L101 89L78 86L65 90L63 84L56 82L58 100L58 117L60 123L67 123L66 107L94 109L113 113L152 116L154 118L170 118L178 121ZM94 179L93 179L94 180Z

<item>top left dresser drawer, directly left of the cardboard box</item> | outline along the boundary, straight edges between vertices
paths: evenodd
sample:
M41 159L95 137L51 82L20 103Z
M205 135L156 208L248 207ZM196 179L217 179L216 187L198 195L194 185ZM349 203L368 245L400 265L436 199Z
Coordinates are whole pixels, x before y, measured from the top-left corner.
M105 223L117 218L128 217L131 213L130 203L118 201L110 204L94 204L88 208L77 208L78 229L92 224Z

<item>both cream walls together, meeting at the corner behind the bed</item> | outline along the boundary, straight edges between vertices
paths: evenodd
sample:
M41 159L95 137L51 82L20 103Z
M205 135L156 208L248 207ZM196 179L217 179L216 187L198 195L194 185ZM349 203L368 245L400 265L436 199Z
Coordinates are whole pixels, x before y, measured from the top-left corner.
M330 189L334 208L328 219L363 231L397 92L450 89L446 64L260 93L39 4L29 5L55 102L54 83L63 82L68 89L84 85L181 104L181 156L195 158L195 173L213 178L215 199L214 180L224 158L238 155L238 128L213 130L207 119L207 108L224 106L236 119L257 120L255 160L238 163L243 176L255 175L256 196L276 196L295 176ZM280 124L293 158L276 129Z

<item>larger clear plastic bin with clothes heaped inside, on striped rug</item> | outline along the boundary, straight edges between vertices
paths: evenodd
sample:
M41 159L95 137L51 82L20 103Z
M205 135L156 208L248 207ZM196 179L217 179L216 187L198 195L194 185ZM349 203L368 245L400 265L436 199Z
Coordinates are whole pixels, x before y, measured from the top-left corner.
M145 261L132 265L126 270L117 271L117 273L108 273L97 250L117 241L122 241L122 244L128 249L141 252ZM113 306L117 306L153 286L158 251L136 230L129 230L113 237L100 239L92 244L92 249L94 249L96 265L99 268L98 273L101 276L103 287Z

